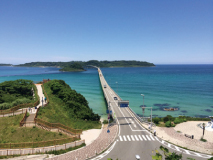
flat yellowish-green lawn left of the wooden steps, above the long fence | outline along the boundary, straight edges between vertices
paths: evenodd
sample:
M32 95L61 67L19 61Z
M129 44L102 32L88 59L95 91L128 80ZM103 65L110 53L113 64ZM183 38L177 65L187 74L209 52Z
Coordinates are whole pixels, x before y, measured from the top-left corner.
M19 127L23 114L0 118L0 143L38 142L67 138L67 135L39 128Z

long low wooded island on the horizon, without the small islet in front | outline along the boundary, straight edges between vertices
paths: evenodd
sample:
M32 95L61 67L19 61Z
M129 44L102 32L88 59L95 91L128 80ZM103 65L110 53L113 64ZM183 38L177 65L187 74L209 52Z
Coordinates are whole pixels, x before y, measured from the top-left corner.
M97 67L149 67L155 66L153 63L145 62L145 61L97 61L97 60L90 60L87 62L83 61L70 61L70 62L31 62L20 64L16 66L28 66L28 67L39 67L39 66L50 66L50 67L68 67L72 64L79 64L81 67L87 67L88 65L97 66ZM72 68L72 67L71 67Z

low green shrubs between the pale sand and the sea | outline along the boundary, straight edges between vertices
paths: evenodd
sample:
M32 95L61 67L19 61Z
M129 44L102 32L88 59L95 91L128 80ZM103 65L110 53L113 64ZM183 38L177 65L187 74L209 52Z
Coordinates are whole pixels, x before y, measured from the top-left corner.
M209 121L209 118L197 118L187 116L172 117L171 115L167 115L166 117L161 118L153 118L153 122L159 127L175 127L176 124L183 123L186 121Z

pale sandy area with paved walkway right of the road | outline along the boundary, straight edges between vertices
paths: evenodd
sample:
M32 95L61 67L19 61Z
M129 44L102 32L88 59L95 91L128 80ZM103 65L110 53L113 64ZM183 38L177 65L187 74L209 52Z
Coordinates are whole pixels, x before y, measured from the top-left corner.
M203 130L197 125L199 123L207 123L206 121L188 121L176 125L175 127L153 127L153 130L156 130L157 136L171 142L175 145L185 147L190 150L197 152L202 152L206 154L213 153L213 132L205 130L204 139L207 142L200 141L200 138L203 134ZM143 124L145 128L148 128L148 125ZM194 135L194 139L186 137L184 134Z

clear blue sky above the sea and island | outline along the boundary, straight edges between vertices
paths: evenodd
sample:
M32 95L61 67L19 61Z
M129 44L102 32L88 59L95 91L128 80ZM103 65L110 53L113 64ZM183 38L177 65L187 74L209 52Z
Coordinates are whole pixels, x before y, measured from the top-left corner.
M0 1L0 63L93 59L213 64L213 1Z

